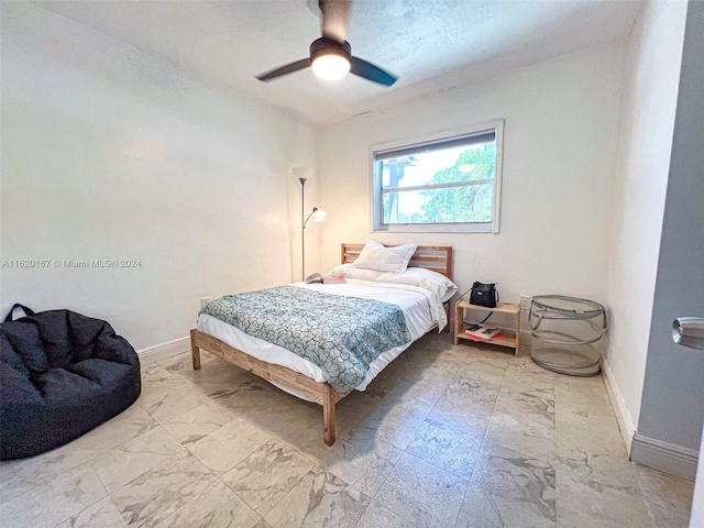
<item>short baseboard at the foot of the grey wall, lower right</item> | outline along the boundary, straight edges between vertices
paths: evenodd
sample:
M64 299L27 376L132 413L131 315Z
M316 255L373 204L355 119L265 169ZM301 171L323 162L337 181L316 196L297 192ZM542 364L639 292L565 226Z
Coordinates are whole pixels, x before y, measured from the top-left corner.
M693 449L636 433L630 460L653 470L694 481L698 453Z

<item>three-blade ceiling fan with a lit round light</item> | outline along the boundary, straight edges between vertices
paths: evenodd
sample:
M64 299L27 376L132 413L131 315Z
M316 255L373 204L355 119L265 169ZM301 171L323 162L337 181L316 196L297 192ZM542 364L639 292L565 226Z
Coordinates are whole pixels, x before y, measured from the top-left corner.
M395 75L352 55L352 47L345 41L350 2L351 0L319 0L322 36L310 44L310 57L257 75L256 78L268 81L310 66L316 76L330 81L351 73L384 86L396 82L398 77Z

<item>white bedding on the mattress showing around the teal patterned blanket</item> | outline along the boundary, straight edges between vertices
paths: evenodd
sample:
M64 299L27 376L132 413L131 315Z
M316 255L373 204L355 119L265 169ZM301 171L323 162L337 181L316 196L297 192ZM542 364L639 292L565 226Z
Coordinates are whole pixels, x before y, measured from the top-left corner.
M400 346L395 346L382 352L378 358L372 361L364 381L355 387L356 391L364 391L372 380L374 380L386 365L394 361L418 338L426 334L433 327L441 329L447 323L444 309L440 300L433 293L417 286L358 279L348 279L344 284L327 285L296 283L294 286L331 295L374 299L391 302L400 307L406 326L410 332L410 341ZM320 367L310 361L300 358L282 346L254 338L253 336L250 336L212 316L206 314L201 315L198 318L197 328L199 331L212 336L230 346L245 352L261 361L285 366L319 383L326 382ZM292 392L285 387L279 386L279 388L294 394L295 396L302 397L300 394Z

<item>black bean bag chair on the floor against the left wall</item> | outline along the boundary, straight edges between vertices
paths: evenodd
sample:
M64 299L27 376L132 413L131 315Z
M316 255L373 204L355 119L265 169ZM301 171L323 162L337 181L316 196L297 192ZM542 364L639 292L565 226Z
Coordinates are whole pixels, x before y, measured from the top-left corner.
M26 317L12 321L10 310L0 323L0 460L64 446L130 407L142 389L134 349L108 322L22 308Z

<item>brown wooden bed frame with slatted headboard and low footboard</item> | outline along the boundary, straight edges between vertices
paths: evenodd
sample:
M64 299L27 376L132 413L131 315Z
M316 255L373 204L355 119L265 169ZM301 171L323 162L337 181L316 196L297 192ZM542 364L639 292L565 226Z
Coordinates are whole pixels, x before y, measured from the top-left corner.
M354 262L363 248L364 244L342 244L342 264ZM408 265L426 267L452 279L452 248L439 245L418 246ZM449 312L449 302L446 302L446 312ZM190 350L195 370L200 369L201 349L321 405L324 442L328 446L334 443L334 406L342 397L328 383L318 383L285 366L274 365L252 358L197 329L190 331Z

